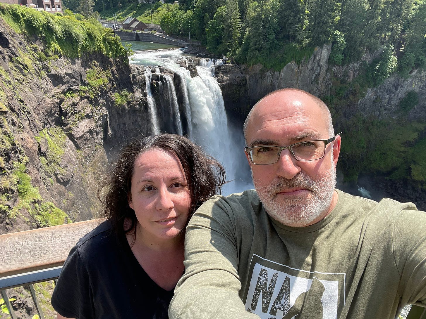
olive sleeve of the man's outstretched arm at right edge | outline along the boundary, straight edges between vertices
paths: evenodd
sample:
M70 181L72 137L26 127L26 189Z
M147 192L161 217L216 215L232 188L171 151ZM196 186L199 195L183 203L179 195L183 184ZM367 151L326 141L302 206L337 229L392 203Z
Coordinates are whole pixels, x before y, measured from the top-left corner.
M395 219L392 246L402 304L426 307L426 213L401 211Z

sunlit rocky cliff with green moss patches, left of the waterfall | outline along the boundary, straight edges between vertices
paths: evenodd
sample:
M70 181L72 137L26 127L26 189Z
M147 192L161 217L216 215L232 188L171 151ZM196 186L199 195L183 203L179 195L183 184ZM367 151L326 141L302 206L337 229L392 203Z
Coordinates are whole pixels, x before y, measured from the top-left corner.
M141 70L102 54L46 59L1 18L0 46L0 234L98 216L110 148L151 131Z

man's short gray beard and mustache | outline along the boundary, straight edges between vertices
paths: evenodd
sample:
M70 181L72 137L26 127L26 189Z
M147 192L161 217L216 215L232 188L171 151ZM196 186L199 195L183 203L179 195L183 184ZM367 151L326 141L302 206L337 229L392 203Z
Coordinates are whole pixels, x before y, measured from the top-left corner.
M292 179L278 177L276 182L268 187L262 187L253 179L257 194L269 216L284 225L301 227L309 225L318 216L328 211L336 187L336 171L331 165L326 177L318 180L311 179L301 171ZM279 201L276 195L285 189L306 188L310 196L291 197Z

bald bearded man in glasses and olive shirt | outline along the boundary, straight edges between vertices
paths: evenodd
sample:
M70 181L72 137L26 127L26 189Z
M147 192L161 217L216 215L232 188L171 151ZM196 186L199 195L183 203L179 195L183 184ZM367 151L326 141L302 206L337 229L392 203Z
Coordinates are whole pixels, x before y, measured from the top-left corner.
M426 214L334 189L341 138L326 105L284 89L244 125L256 191L191 219L170 318L395 318L426 306Z

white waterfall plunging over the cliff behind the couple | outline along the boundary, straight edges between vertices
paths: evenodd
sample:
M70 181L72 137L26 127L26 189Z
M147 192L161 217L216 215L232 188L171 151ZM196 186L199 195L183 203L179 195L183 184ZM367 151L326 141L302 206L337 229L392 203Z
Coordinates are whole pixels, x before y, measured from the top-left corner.
M151 80L151 76L149 79L147 76L147 72L151 72L149 66L151 68L164 66L175 72L175 74L178 74L181 78L180 89L184 100L185 116L188 120L189 127L187 133L189 138L218 159L225 166L227 179L233 180L222 188L222 194L230 194L253 188L253 184L250 181L248 164L244 162L244 156L242 156L242 152L244 152L242 129L239 130L239 134L231 134L228 128L222 91L214 77L215 62L213 60L207 61L201 59L200 66L197 66L198 76L191 77L190 71L176 63L177 60L181 60L183 57L184 54L178 49L161 53L134 54L130 63L141 64L147 67L147 71L145 71L146 83L150 83ZM222 63L222 61L219 61L219 63ZM159 73L159 71L155 73ZM167 74L163 75L167 81L167 92L172 95L170 101L173 101L172 109L174 114L170 115L175 117L181 128L181 119L173 80ZM150 85L147 85L148 96L150 96L148 99L149 108L155 109L155 102L148 86ZM152 112L152 114L154 113ZM158 119L151 120L153 121L153 127L155 127L155 121L158 125ZM242 171L247 172L241 174Z

